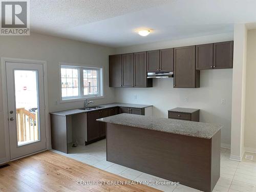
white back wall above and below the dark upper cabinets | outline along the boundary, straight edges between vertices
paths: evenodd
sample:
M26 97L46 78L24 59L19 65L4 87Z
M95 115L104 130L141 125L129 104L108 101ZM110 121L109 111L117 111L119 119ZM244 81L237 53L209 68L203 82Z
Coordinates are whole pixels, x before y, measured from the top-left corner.
M117 48L115 52L139 52L232 39L233 34L228 33ZM232 69L202 70L200 84L197 89L174 89L173 78L154 79L153 88L116 88L116 99L119 102L153 104L153 115L157 117L167 117L167 111L176 107L200 109L200 121L223 125L221 142L230 146ZM185 97L188 97L188 102L184 101ZM222 98L226 104L221 104Z

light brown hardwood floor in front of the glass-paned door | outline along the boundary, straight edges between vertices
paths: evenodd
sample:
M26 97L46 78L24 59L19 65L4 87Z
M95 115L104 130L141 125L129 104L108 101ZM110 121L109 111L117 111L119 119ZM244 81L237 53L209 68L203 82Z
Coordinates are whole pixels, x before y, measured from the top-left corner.
M9 164L0 169L0 191L160 191L146 185L78 185L128 179L50 151Z

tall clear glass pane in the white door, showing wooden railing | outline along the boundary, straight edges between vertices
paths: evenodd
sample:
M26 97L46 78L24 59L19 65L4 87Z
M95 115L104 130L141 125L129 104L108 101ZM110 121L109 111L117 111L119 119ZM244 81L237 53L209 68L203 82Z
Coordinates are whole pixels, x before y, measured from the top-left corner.
M17 145L39 140L37 71L14 70Z

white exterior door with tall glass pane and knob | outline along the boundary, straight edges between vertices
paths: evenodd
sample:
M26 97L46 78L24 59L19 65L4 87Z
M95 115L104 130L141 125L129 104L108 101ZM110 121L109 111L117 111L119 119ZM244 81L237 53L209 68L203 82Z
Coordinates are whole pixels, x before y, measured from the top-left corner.
M44 69L6 62L11 159L46 149Z

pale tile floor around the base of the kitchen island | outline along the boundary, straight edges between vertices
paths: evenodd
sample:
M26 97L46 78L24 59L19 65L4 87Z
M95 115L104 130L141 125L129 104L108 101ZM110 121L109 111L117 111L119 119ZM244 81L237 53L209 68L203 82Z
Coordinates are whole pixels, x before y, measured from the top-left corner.
M134 181L152 181L152 183L166 181L138 170L106 161L105 142L106 140L104 139L87 146L70 147L70 154L52 151ZM254 156L253 160L232 161L229 160L230 151L226 148L221 148L221 177L215 186L214 192L256 192L256 154L250 155ZM184 185L153 184L149 186L162 191L199 191Z

